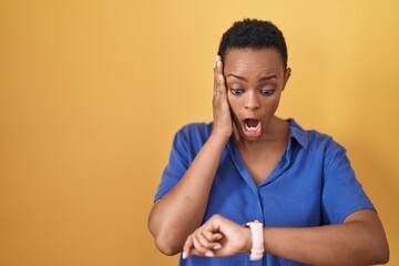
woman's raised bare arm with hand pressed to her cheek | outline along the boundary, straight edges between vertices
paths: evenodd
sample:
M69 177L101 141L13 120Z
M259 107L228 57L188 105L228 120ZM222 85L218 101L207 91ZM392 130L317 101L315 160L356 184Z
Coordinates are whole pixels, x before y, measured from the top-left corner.
M214 91L218 93L213 98L213 132L181 181L155 202L149 217L155 245L166 255L181 252L187 236L200 227L222 152L232 135L233 123L221 59L217 58L216 62Z

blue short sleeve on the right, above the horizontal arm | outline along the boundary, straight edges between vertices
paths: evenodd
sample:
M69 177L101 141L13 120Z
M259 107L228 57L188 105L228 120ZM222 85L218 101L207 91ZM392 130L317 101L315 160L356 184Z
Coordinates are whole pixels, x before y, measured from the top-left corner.
M340 224L356 211L375 209L355 176L345 147L332 140L327 149L323 181L324 224Z

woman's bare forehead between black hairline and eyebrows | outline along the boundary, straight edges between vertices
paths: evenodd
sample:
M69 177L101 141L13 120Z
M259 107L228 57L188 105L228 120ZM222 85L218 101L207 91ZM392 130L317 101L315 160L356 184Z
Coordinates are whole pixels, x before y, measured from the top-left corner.
M231 49L224 58L224 72L229 74L283 73L280 54L275 49Z

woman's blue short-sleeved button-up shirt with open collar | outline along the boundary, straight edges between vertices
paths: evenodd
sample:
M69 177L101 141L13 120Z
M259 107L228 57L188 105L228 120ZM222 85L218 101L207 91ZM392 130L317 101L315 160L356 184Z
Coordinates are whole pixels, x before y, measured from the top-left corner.
M174 139L155 200L187 171L209 137L213 124L190 124ZM303 130L289 120L289 142L270 175L256 185L233 142L222 153L204 216L221 214L238 224L258 219L266 227L339 224L351 213L374 206L355 177L346 150L330 136ZM303 265L273 255L252 262L248 254L207 258L192 256L181 265Z

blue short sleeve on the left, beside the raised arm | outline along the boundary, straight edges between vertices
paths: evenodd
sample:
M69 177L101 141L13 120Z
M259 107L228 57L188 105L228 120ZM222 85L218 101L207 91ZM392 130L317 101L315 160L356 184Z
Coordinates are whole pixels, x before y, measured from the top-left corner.
M174 136L170 160L162 174L154 201L160 200L172 190L182 178L188 166L187 139L181 130Z

